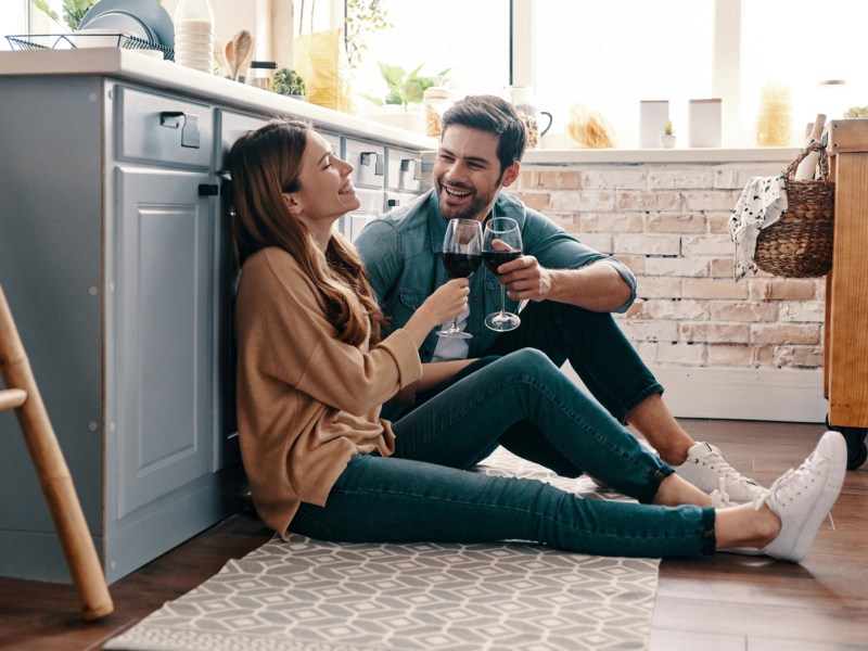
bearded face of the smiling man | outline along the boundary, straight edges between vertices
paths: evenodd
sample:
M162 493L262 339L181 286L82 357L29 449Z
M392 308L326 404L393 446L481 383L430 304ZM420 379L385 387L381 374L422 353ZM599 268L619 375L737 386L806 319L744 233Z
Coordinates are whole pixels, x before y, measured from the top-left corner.
M451 125L434 161L434 187L445 219L482 221L492 209L500 188L518 176L513 163L502 174L497 157L498 137L487 131Z

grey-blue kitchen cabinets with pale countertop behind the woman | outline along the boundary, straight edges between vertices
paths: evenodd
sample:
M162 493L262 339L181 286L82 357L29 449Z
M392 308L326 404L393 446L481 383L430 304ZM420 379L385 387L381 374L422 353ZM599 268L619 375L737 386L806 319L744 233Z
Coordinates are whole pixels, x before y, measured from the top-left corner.
M0 283L108 583L243 506L226 156L306 118L367 220L396 137L332 113L112 49L0 53ZM11 412L0 437L0 575L68 583Z

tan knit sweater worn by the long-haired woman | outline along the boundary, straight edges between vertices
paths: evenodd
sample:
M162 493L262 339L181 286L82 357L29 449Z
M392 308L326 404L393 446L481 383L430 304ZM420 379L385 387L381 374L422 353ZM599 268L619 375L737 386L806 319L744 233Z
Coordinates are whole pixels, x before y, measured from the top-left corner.
M324 505L355 455L394 451L380 407L422 367L405 330L370 350L340 342L312 282L273 247L244 263L235 337L244 470L259 516L285 538L299 503Z

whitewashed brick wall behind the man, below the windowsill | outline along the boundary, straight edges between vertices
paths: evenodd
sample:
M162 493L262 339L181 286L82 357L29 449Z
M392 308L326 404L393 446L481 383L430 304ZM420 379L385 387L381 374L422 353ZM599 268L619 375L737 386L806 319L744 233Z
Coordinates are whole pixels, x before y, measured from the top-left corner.
M732 277L730 210L781 163L524 165L510 191L623 260L638 298L622 328L651 367L822 367L824 279Z

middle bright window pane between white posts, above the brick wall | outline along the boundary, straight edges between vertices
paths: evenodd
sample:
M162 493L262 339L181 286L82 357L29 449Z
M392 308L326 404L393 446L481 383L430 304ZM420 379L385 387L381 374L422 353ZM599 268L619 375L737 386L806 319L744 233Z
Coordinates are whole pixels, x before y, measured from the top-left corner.
M686 133L688 100L713 97L713 0L536 0L534 14L537 104L559 131L585 104L635 149L640 100L668 100Z

